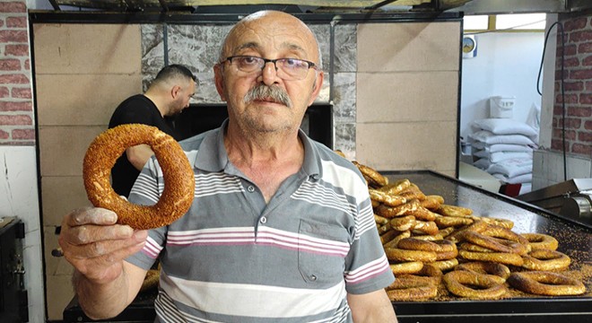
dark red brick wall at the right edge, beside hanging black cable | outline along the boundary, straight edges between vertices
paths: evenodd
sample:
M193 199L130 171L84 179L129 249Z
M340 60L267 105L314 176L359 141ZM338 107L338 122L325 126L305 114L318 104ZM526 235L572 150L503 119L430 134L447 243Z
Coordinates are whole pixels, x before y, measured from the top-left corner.
M592 12L562 14L559 20L565 31L565 48L562 46L561 33L558 32L551 149L563 151L563 52L566 152L589 158L592 156Z

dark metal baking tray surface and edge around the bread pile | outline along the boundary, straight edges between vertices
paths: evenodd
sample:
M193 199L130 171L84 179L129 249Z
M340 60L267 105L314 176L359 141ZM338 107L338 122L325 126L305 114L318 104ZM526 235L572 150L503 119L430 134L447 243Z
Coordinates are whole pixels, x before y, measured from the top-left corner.
M570 266L591 266L592 227L509 196L486 191L430 170L380 171L390 181L409 179L426 195L440 195L447 205L471 208L474 214L508 219L517 233L545 233L559 240L559 251L570 256ZM592 322L592 277L579 296L527 295L499 301L466 301L448 297L438 301L394 301L399 322Z

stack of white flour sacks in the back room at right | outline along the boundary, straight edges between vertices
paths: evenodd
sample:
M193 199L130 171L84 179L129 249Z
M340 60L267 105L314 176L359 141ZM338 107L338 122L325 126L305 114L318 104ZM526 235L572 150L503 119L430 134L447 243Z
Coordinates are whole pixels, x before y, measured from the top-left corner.
M473 165L502 183L521 184L519 194L530 192L538 130L510 118L479 119L473 126Z

